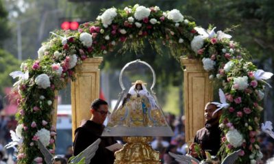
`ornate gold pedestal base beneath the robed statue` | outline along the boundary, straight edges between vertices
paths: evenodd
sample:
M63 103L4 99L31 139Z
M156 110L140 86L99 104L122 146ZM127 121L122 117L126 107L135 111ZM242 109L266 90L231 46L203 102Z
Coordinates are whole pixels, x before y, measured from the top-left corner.
M114 164L160 164L160 153L149 145L152 137L123 137L123 148L115 152Z

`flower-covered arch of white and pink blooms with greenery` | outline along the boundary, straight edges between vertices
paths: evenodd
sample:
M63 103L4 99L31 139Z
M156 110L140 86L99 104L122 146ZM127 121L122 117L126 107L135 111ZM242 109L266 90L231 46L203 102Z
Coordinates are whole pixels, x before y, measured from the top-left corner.
M164 44L176 59L190 54L188 57L203 61L203 67L211 74L209 78L222 83L229 103L220 120L221 155L242 150L238 163L260 161L262 153L256 135L266 83L253 76L258 69L249 62L249 53L240 44L222 31L203 32L188 19L178 10L163 12L157 6L134 5L124 10L103 10L97 20L80 25L78 31L52 33L38 50L38 59L23 61L21 71L25 77L19 77L14 85L13 96L19 108L16 119L20 125L16 133L23 137L18 163L45 163L35 142L38 137L54 153L56 133L51 126L54 92L69 80L75 80L76 65L87 57L114 51L117 44L122 45L123 52L141 51L145 40L158 53Z

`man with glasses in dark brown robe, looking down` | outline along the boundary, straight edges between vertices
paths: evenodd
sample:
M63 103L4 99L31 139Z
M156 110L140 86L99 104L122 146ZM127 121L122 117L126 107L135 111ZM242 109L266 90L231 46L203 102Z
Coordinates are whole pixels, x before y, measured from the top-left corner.
M74 152L73 155L76 156L98 138L101 139L99 148L95 156L90 160L92 164L113 164L114 163L114 152L106 149L106 146L110 146L115 143L113 137L101 137L103 129L105 126L103 122L107 117L108 103L104 100L97 99L92 102L90 107L90 113L92 114L90 120L82 122L82 125L75 130L75 140L73 142Z

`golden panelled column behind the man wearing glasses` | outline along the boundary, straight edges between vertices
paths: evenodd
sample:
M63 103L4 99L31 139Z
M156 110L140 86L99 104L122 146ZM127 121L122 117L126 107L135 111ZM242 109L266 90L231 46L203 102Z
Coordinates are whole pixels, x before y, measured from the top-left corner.
M75 69L76 80L71 83L71 109L74 131L82 120L90 119L90 103L99 98L100 70L103 57L88 58Z

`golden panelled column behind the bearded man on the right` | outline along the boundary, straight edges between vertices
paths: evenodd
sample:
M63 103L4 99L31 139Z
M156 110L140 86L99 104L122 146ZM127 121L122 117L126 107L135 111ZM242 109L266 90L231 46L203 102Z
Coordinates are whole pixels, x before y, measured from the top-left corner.
M184 111L186 115L186 142L193 141L197 130L203 128L203 110L213 100L212 83L203 64L197 59L181 57L184 66Z

